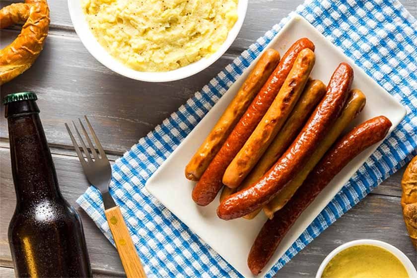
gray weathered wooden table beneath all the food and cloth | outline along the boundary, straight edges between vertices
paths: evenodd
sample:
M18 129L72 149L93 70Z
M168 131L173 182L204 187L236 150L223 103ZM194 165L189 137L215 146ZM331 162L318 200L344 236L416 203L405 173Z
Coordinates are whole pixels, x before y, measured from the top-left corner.
M116 249L75 200L88 186L64 123L87 115L109 158L114 161L139 138L183 104L265 31L303 0L251 0L242 30L231 48L209 69L175 82L146 83L120 76L98 63L75 34L67 0L50 0L51 28L45 49L30 70L1 87L8 93L31 90L38 94L41 119L65 198L81 215L94 277L123 277ZM417 16L416 0L403 0ZM10 4L2 0L1 6ZM260 16L262 15L262 16ZM20 27L1 31L1 46L12 41ZM4 115L4 106L1 106ZM7 122L0 117L0 277L12 277L7 226L15 206ZM400 180L394 174L283 267L277 277L313 277L319 264L338 245L371 238L391 243L413 261L400 206Z

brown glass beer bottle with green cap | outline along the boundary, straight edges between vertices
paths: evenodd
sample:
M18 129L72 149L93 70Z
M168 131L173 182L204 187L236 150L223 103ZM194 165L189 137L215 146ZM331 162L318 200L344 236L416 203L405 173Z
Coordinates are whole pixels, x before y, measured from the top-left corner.
M61 195L36 95L6 96L16 209L8 228L16 277L92 277L81 219Z

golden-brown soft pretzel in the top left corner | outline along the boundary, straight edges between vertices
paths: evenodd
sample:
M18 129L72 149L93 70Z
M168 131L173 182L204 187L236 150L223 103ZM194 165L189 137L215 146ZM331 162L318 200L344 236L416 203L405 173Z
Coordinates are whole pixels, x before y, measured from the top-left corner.
M29 69L42 51L50 22L46 0L26 0L0 10L0 28L18 22L25 22L22 31L0 50L0 85Z

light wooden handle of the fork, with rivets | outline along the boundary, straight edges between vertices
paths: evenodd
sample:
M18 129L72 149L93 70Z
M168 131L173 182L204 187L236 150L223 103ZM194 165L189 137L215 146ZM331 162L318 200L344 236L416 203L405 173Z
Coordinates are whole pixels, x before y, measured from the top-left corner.
M128 227L123 219L119 207L113 207L104 211L112 231L114 242L116 243L117 252L125 269L128 278L145 278L146 274L140 263L135 245L129 234Z

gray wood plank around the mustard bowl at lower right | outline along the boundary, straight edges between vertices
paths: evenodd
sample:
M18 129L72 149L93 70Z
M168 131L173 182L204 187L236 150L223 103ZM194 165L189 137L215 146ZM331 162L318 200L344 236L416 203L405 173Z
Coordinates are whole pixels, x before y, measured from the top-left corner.
M403 221L400 198L370 194L279 270L277 277L314 277L333 249L356 239L377 239L392 244L417 266L416 249Z

